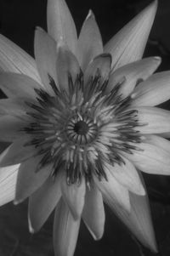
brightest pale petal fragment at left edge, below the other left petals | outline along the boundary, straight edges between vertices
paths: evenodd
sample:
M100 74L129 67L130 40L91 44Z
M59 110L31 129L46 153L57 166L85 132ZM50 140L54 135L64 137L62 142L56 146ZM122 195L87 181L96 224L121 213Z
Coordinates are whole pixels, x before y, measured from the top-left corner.
M0 168L0 206L14 200L19 167L20 164Z

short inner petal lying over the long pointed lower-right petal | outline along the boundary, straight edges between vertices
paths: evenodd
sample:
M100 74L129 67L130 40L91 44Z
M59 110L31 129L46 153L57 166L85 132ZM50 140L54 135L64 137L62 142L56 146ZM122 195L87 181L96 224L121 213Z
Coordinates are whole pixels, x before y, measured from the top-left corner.
M122 159L124 163L121 165L115 164L114 166L108 166L111 175L113 175L120 184L125 186L128 191L144 196L144 187L136 168L133 166L133 163L126 158L122 157Z

